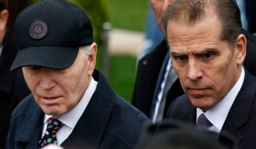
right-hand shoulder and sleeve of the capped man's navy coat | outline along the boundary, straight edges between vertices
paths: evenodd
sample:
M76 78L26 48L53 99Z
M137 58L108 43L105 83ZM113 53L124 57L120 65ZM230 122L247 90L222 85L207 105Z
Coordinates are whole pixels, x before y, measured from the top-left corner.
M119 144L134 148L143 124L150 120L119 95L115 98L106 133L118 140Z

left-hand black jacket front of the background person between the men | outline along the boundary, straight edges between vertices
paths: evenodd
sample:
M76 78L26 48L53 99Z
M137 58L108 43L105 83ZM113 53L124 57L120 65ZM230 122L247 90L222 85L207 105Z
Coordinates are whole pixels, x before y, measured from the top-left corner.
M147 117L150 117L159 72L168 51L166 40L163 40L138 62L131 103Z

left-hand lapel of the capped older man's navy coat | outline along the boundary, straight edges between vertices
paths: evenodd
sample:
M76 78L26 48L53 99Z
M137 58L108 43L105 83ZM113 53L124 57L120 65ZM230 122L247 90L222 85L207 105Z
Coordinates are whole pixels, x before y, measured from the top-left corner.
M35 101L33 101L27 113L28 115L24 118L14 141L24 145L27 144L27 149L37 149L38 141L42 133L44 113Z

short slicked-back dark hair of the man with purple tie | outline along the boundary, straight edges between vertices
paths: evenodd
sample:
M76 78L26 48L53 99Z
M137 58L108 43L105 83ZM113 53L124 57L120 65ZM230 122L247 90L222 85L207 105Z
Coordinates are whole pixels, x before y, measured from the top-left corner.
M237 37L242 34L240 9L235 0L175 0L162 13L161 23L167 36L169 21L192 26L209 13L215 13L220 21L220 40L234 49Z

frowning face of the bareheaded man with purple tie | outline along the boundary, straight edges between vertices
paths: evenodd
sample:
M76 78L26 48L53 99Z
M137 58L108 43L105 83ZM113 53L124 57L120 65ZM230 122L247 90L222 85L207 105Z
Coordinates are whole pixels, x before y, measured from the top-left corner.
M218 22L216 16L211 16L193 26L168 23L174 70L191 103L205 112L237 82L243 61L237 58L237 48L232 51L219 40Z

